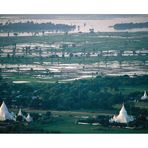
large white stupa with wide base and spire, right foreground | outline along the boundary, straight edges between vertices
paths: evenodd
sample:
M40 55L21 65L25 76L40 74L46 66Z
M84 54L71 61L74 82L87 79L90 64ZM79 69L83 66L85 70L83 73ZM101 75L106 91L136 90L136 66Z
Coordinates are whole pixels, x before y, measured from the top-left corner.
M109 120L109 122L110 123L113 123L113 122L117 122L117 123L128 123L128 122L131 122L133 120L134 120L133 116L129 116L127 114L127 111L126 111L126 109L124 107L124 104L123 104L122 105L122 108L121 108L121 110L119 112L119 115L118 116L115 116L114 115L113 118L111 118Z

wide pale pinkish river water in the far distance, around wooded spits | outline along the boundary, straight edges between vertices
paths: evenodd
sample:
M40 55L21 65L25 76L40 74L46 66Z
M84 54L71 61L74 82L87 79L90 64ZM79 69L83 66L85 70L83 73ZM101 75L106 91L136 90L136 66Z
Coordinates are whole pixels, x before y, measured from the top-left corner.
M113 25L116 23L141 23L148 21L148 15L0 15L0 23L6 22L27 22L35 23L52 22L55 24L76 25L76 29L71 33L89 32L89 29L94 29L95 32L120 32L115 30ZM122 31L148 31L148 28L130 29ZM48 32L50 33L50 32ZM52 32L53 33L53 32ZM5 33L1 33L5 36ZM12 35L12 34L10 34ZM21 33L20 36L31 36L31 33Z

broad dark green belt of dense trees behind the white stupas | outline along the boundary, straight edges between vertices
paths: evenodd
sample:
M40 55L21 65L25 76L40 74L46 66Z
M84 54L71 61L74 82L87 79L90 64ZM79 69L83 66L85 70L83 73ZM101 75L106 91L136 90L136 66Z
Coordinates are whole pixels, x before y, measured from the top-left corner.
M97 77L54 84L13 84L1 79L0 101L11 107L54 110L112 109L116 103L138 99L143 92L124 93L121 87L147 86L148 76Z

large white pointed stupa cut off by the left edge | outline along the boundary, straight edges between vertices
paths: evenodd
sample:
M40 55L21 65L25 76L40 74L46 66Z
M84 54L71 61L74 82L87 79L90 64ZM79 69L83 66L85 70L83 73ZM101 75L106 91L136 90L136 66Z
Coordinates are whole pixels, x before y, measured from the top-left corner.
M8 108L5 102L3 101L0 107L0 121L5 121L5 120L15 120L15 119L13 114L8 111Z

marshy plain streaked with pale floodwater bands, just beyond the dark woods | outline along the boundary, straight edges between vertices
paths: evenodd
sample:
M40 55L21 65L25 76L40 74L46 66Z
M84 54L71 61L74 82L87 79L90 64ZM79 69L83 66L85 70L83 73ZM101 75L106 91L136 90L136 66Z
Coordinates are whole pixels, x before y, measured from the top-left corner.
M0 68L3 76L7 78L30 77L40 80L54 80L59 82L68 82L85 78L92 78L98 75L145 75L148 74L148 60L108 60L109 57L145 57L148 55L147 49L137 50L96 50L90 52L63 52L63 44L68 47L73 46L73 42L57 42L53 44L47 43L19 43L5 46L1 49L1 57L18 60L29 58L28 60L37 58L27 63L27 59L23 63L1 63ZM80 43L76 46L83 46ZM15 48L15 53L14 53ZM64 57L63 57L64 55ZM100 60L104 57L104 60ZM68 62L65 63L65 58ZM78 59L80 62L72 60ZM96 59L96 62L86 62L90 59ZM98 59L98 60L97 60ZM13 83L29 83L21 78L20 81Z

